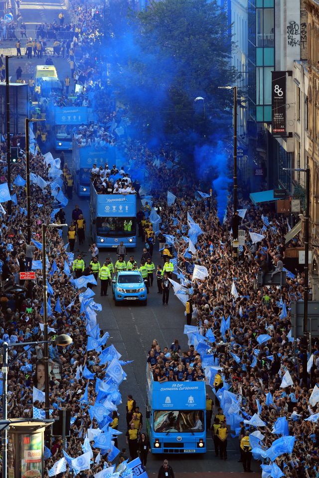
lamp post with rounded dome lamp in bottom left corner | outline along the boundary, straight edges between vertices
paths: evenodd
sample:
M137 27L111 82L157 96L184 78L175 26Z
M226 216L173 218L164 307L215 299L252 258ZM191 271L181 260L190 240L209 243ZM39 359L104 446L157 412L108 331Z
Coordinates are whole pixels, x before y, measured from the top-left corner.
M47 345L47 342L51 340L39 340L34 342L20 342L20 343L7 343L3 342L2 344L2 421L8 421L7 417L7 374L9 366L13 365L22 355L27 353L27 350L24 350L20 355L18 355L11 363L8 363L8 350L9 348L15 347L25 347L26 345L38 345L39 343L44 343ZM72 343L72 338L69 335L62 334L58 335L55 339L55 343L61 347L66 347ZM46 376L46 375L45 375ZM45 401L49 399L49 388L45 388ZM47 417L45 416L47 419ZM29 421L29 420L26 420ZM2 478L7 478L7 428L4 428L2 431Z

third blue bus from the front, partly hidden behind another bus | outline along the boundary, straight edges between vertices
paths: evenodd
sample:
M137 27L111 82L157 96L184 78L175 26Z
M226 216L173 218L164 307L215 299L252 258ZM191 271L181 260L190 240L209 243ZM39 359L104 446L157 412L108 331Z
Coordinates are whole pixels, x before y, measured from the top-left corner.
M77 194L84 197L90 196L91 169L93 164L99 167L104 166L105 163L113 165L115 162L115 147L110 146L107 150L96 150L92 146L79 147L73 138L72 173L74 188Z

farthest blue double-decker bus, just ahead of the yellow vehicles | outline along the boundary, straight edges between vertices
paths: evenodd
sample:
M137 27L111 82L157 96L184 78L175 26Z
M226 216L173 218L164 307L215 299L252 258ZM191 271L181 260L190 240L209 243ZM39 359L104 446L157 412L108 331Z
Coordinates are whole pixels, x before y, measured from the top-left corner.
M53 106L50 111L53 148L56 151L72 150L72 130L94 121L91 108L86 106Z

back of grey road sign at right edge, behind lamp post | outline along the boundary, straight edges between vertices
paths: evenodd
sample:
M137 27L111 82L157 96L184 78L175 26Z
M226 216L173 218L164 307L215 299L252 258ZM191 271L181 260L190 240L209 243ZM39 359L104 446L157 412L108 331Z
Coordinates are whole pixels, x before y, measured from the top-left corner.
M293 337L304 334L304 301L291 302L291 333ZM308 332L319 337L319 301L308 301Z

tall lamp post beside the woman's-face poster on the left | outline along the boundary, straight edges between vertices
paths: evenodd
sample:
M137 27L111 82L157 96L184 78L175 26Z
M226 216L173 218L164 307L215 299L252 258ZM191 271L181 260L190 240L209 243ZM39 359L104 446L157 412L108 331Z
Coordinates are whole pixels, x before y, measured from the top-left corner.
M48 347L48 306L47 306L47 279L46 279L46 229L67 226L67 224L42 224L42 281L43 281L43 336L44 336L44 389L45 389L45 418L50 418L49 411L49 347Z

